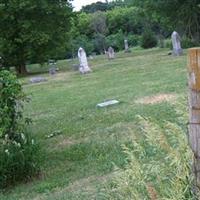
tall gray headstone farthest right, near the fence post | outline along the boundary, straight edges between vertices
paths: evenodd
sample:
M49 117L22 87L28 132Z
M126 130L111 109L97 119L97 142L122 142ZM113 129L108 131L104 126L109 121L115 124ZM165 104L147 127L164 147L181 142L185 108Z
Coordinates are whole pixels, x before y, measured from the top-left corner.
M174 31L171 35L172 37L172 45L173 45L173 55L174 56L180 56L183 53L183 50L181 48L181 38L179 34Z

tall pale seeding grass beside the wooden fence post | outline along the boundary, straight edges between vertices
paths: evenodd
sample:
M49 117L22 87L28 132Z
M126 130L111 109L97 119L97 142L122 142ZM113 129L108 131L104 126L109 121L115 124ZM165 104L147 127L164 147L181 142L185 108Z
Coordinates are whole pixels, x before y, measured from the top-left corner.
M192 200L192 152L188 146L183 105L175 106L177 122L158 124L151 118L137 117L139 131L123 147L127 154L125 170L118 170L106 188L106 199ZM178 125L179 124L179 125Z

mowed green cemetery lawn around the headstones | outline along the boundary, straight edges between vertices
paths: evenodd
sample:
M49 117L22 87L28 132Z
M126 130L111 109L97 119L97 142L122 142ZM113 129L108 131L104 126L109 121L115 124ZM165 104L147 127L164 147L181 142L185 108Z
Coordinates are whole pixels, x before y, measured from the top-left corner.
M164 121L179 123L179 99L186 113L186 54L173 57L167 49L133 49L114 60L89 60L93 72L87 75L72 70L77 61L60 61L55 77L43 74L47 82L28 84L30 77L22 78L32 99L25 106L33 119L29 130L45 156L40 178L9 189L0 199L102 199L102 188L115 168L127 164L122 146L137 134L137 116L160 126ZM121 103L96 107L108 99ZM55 131L60 134L46 137Z

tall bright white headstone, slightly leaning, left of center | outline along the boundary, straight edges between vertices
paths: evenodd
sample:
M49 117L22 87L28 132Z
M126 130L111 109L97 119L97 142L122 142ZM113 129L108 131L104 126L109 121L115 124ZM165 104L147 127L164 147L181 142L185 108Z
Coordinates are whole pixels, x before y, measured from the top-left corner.
M85 50L82 47L80 47L78 50L78 58L79 58L79 63L80 63L79 65L80 73L85 74L85 73L91 72L91 69L88 66Z

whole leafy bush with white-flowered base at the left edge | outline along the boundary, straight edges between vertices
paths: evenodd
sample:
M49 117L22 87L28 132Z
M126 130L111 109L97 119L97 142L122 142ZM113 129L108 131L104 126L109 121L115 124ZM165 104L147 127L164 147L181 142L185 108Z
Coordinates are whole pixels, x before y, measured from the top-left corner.
M39 171L39 146L25 131L26 96L16 76L0 71L0 188L26 180Z

